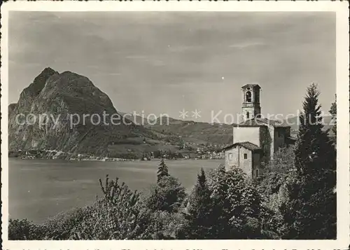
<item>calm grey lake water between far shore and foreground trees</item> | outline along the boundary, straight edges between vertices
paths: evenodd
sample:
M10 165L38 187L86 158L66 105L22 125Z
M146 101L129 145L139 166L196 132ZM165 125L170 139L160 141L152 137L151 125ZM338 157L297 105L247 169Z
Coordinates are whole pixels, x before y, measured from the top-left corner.
M118 176L132 189L144 190L156 181L158 160L93 162L20 160L10 158L8 205L10 218L41 223L60 211L92 204L101 196L99 179ZM200 168L213 169L223 160L167 160L169 173L190 190Z

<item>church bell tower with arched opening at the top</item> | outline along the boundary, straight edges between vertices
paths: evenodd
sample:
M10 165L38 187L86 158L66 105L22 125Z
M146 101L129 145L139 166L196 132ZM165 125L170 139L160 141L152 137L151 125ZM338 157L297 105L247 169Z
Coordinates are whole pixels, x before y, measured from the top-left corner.
M243 120L260 117L260 86L258 84L247 84L241 90L243 95L241 106Z

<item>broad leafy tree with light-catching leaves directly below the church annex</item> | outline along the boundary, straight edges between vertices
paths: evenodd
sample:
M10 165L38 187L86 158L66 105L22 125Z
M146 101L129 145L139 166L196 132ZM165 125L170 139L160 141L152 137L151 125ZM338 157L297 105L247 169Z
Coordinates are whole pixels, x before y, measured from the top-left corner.
M239 168L221 166L209 174L214 203L214 239L260 237L261 197L253 182Z

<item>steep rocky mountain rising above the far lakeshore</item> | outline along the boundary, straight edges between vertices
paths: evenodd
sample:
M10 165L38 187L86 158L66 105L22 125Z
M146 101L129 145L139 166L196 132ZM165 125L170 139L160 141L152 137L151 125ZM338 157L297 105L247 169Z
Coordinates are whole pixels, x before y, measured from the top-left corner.
M8 111L10 151L31 148L104 155L109 145L121 139L153 136L123 120L111 124L112 114L118 118L111 99L87 77L70 71L44 69Z

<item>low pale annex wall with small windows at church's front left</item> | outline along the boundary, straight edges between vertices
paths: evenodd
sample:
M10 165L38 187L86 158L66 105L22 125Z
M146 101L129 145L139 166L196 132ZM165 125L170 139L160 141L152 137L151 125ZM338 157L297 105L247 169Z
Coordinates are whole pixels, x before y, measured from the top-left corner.
M232 156L230 157L230 154ZM244 155L246 154L246 159ZM236 146L235 148L230 148L225 151L225 169L230 170L232 167L239 167L243 172L251 177L253 166L253 154L250 150L242 147Z

